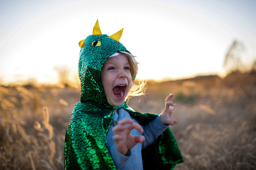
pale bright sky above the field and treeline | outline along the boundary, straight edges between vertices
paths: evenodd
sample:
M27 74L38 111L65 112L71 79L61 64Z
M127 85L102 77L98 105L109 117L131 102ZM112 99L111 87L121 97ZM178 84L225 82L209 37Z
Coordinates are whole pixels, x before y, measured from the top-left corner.
M234 40L256 58L255 0L0 1L0 82L57 82L54 66L77 78L78 42L124 28L120 42L140 63L137 78L224 75Z

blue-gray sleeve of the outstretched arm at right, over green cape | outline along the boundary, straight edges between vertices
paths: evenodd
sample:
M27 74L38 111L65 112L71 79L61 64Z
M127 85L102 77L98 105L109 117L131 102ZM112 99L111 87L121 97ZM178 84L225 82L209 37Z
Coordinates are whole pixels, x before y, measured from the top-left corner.
M143 126L145 141L142 143L142 149L152 144L168 127L169 125L162 123L160 116Z

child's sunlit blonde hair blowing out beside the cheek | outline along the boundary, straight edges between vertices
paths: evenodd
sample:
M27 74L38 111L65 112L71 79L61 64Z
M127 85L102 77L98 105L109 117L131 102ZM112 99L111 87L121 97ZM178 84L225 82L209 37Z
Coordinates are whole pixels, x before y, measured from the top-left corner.
M120 52L118 52L120 53ZM122 53L124 54L124 53ZM132 96L141 96L141 95L145 95L145 91L146 91L146 83L147 81L145 80L139 80L137 82L135 81L135 77L138 73L138 62L135 60L135 58L130 55L130 54L124 54L127 58L128 58L128 62L130 64L130 72L131 72L131 76L132 76L132 85L130 87L130 90L126 96L126 99L129 99Z

